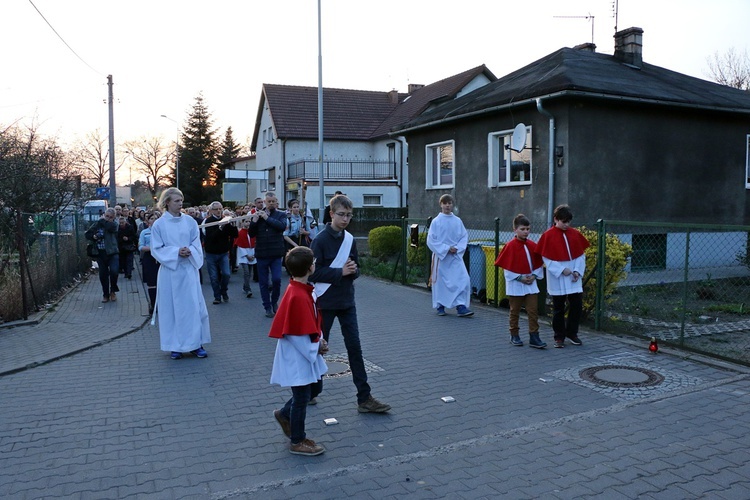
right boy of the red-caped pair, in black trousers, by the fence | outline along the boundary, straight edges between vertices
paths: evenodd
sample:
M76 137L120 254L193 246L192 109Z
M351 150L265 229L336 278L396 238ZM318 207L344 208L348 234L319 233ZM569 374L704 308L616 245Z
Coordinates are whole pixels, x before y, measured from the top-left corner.
M555 209L555 225L539 238L536 251L547 267L547 293L552 296L554 312L552 329L555 347L565 347L565 339L573 345L583 345L578 338L578 324L583 311L583 273L586 271L588 240L580 231L570 227L573 212L568 205ZM565 303L568 302L567 321Z

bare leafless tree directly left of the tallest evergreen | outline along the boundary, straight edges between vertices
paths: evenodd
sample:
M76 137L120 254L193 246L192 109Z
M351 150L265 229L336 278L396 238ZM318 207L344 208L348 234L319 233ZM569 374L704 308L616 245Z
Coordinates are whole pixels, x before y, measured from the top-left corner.
M174 172L174 147L164 137L141 138L125 143L125 152L137 164L134 170L146 177L151 196L156 197L159 187L171 184Z

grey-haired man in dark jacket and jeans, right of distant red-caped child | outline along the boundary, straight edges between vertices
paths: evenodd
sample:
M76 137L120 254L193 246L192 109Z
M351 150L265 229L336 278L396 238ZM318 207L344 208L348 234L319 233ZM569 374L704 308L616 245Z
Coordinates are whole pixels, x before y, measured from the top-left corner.
M247 232L255 238L255 260L258 267L258 287L263 298L266 317L273 318L281 294L281 260L286 254L284 230L286 214L278 210L279 200L274 193L266 193L266 208L253 214ZM268 275L271 274L271 291Z

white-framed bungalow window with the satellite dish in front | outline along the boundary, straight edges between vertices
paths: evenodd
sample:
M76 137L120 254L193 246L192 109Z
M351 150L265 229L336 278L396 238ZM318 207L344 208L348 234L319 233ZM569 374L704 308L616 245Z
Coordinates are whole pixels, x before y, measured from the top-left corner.
M526 147L510 149L513 130L493 132L487 136L488 185L522 186L531 184L531 127L526 127Z

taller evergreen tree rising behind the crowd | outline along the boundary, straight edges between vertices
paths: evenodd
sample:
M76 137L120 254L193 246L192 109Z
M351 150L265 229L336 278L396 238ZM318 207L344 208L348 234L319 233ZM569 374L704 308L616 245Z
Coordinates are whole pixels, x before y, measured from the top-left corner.
M218 143L212 129L211 113L198 94L188 116L180 144L180 190L187 205L210 203L219 198L217 184Z

